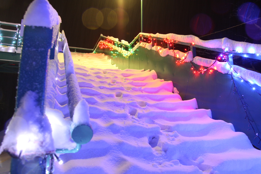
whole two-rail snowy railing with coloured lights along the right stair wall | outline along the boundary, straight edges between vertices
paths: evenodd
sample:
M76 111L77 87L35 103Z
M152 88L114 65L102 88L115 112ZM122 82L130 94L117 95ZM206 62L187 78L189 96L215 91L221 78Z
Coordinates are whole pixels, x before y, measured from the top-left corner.
M150 41L148 41L149 38ZM138 39L139 42L137 41ZM165 42L168 48L161 47L162 44L158 46L157 40L161 40L162 42ZM175 56L176 58L180 58L181 61L184 62L192 62L200 66L209 67L221 73L232 73L234 76L242 78L242 80L246 80L251 84L257 84L258 86L261 86L260 73L233 65L233 55L239 55L239 56L261 60L260 44L237 42L234 40L230 40L228 38L204 41L192 35L184 36L184 35L177 35L177 34L158 34L158 33L157 34L140 33L137 37L134 38L134 40L131 43L128 43L125 40L121 40L121 42L119 42L117 38L110 37L110 36L105 37L101 34L99 44L101 43L105 43L108 47L111 47L119 51L121 54L123 54L124 57L128 57L132 55L134 51L138 49L140 46L147 49L158 51L159 54L163 57L167 55ZM187 53L183 53L179 50L173 50L173 44L188 45L190 46L191 51L188 51ZM219 61L196 56L195 53L196 47L228 54L229 60L228 62L219 62ZM247 53L247 51L249 53ZM184 59L184 57L186 58Z

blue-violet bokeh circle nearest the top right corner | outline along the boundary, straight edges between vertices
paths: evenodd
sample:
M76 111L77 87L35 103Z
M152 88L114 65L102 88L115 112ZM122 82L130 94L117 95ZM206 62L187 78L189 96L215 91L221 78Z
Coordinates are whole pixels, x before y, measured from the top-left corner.
M259 16L260 8L252 2L244 3L238 8L238 18L241 22L248 22L248 24L254 24L256 23L256 20L252 20L258 19Z

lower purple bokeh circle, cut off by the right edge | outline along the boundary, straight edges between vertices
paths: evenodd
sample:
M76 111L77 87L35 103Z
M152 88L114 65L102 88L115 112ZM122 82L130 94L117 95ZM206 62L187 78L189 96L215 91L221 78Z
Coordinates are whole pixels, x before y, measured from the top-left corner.
M261 20L258 19L255 24L246 24L247 36L254 40L261 40Z

